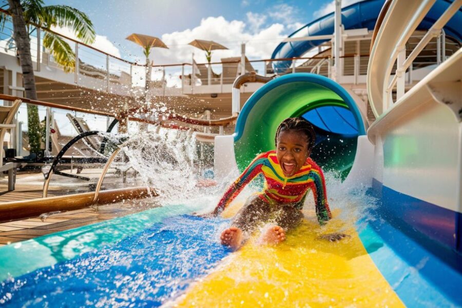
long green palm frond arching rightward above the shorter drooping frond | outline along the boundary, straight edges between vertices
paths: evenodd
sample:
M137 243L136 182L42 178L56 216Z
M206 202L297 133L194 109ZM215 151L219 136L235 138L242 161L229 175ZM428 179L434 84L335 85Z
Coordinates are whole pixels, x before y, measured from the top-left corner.
M37 0L35 0L37 1ZM46 27L67 27L75 32L75 35L83 43L93 43L96 33L90 18L78 9L67 5L50 5L43 7L43 24Z

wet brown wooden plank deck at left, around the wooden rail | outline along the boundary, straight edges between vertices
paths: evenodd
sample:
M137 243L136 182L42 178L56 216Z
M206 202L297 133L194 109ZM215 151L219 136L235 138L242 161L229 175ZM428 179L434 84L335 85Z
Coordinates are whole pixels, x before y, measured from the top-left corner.
M98 179L101 170L89 169L85 176ZM107 179L107 188L122 188L123 183L120 179ZM0 178L0 206L2 203L31 200L42 198L44 177L41 173L18 174L16 178L15 190L8 190L8 180L6 177ZM89 182L72 180L69 178L56 177L50 184L48 197L75 194L77 192L89 191ZM122 187L121 187L122 186ZM144 199L147 200L147 199ZM101 222L104 220L121 217L139 211L156 207L153 202L133 200L130 202L119 202L98 206L98 211L93 208L83 208L78 210L64 211L41 217L30 217L28 219L5 221L0 217L0 246L32 239L62 230L72 229L83 225ZM2 222L3 221L3 222Z

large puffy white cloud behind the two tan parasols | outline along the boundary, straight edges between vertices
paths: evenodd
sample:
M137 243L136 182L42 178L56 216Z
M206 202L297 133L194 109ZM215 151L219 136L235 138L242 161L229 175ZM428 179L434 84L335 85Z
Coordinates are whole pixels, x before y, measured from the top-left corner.
M278 23L259 29L255 33L249 32L247 28L244 22L227 21L223 16L203 18L198 27L163 34L162 41L169 49L156 48L151 52L151 57L155 65L191 63L191 53L194 52L196 62L204 63L205 53L187 45L192 40L202 39L215 41L229 48L213 51L212 62L219 62L223 57L239 56L242 42L247 42L247 57L265 59L271 56L285 34L285 27Z

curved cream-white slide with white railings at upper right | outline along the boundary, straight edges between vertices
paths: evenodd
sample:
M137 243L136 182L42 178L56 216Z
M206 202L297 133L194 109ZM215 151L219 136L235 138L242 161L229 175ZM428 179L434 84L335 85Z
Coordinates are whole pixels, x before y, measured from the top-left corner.
M445 60L446 37L442 28L458 11L462 0L455 0L406 56L406 43L434 3L435 0L395 0L391 3L378 30L368 66L368 92L376 117L393 107L394 89L396 89L396 101L405 94L406 71L412 69L413 61L435 37L437 38L436 63L440 64ZM392 75L395 63L396 70ZM408 81L410 75L411 72Z

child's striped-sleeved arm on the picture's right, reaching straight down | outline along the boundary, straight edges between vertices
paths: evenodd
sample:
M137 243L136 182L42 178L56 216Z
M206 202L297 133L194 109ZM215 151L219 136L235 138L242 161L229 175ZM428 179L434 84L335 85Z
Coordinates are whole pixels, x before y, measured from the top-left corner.
M324 174L322 173L321 168L314 161L311 161L310 163L312 168L310 176L313 178L312 190L316 204L316 216L318 217L319 223L324 224L332 218L327 200Z

